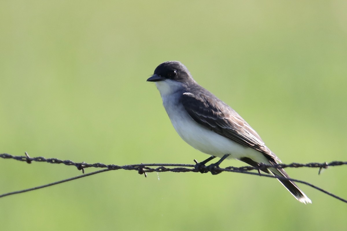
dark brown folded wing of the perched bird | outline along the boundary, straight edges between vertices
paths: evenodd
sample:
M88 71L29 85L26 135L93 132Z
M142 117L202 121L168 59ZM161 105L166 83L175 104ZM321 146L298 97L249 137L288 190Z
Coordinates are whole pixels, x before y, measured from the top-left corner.
M265 146L253 128L234 109L210 92L198 95L185 92L181 96L180 101L187 113L198 124L230 140L263 153L271 161L280 161Z

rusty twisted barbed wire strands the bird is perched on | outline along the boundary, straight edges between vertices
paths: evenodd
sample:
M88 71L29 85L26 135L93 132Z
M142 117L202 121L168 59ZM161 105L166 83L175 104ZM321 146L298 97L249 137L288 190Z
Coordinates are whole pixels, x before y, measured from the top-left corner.
M124 170L136 170L138 172L138 174L144 174L146 177L146 173L147 172L201 172L199 170L197 170L195 168L195 165L190 165L190 164L164 164L164 163L141 163L141 164L135 164L135 165L123 165L123 166L118 166L118 165L105 165L103 163L93 163L93 164L89 164L86 162L74 162L71 160L60 160L57 158L44 158L44 157L34 157L31 158L29 157L29 155L27 154L27 152L25 152L25 156L12 156L11 154L7 154L7 153L3 153L0 154L0 157L3 159L14 159L14 160L18 160L18 161L25 161L27 163L32 163L34 162L47 162L47 163L55 163L55 164L64 164L67 166L75 166L77 167L78 170L82 170L83 174L84 174L84 169L85 168L106 168L103 170L99 170L99 171L94 171L94 172L90 172L81 176L76 176L76 177L72 177L72 178L68 178L68 179L64 179L64 180L60 180L60 181L56 181L50 184L46 184L46 185L41 185L41 186L37 186L37 187L33 187L33 188L28 188L28 189L24 189L24 190L19 190L19 191L15 191L15 192L10 192L10 193L5 193L5 194L1 194L1 197L5 197L5 196L9 196L9 195L14 195L14 194L19 194L19 193L25 193L28 191L32 191L32 190L36 190L36 189L40 189L40 188L45 188L45 187L49 187L52 185L57 185L57 184L61 184L67 181L71 181L71 180L75 180L75 179L79 179L79 178L83 178L83 177L87 177L87 176L91 176L94 174L98 174L101 172L105 172L105 171L110 171L110 170L118 170L118 169L124 169ZM195 162L197 162L196 160L194 160ZM318 174L320 174L321 170L324 168L328 168L329 166L342 166L342 165L347 165L347 161L331 161L331 162L323 162L323 163L318 163L318 162L313 162L313 163L306 163L306 164L302 164L302 163L290 163L290 164L277 164L277 165L266 165L266 164L259 164L259 166L244 166L244 167L226 167L226 168L219 168L216 167L213 170L216 172L238 172L238 173L244 173L244 174L251 174L251 175L257 175L257 176L264 176L264 177L270 177L270 178L279 178L279 179L288 179L291 181L295 181L298 183L302 183L305 185L308 185L310 187L313 187L329 196L332 196L336 199L339 199L342 202L347 203L347 200L336 196L335 194L329 193L328 191L317 187L313 184L310 184L306 181L302 181L302 180L297 180L294 178L285 178L285 177L281 177L281 176L273 176L273 175L267 175L267 174L261 174L260 170L264 169L264 168L268 168L268 167L272 167L272 168L301 168L301 167L308 167L308 168L319 168ZM157 167L157 168L150 168L150 167ZM167 168L167 167L174 167L174 168ZM257 170L258 172L250 172L251 170ZM208 167L205 167L203 169L204 172L208 172L210 171L210 169L208 169ZM212 172L212 174L214 174Z

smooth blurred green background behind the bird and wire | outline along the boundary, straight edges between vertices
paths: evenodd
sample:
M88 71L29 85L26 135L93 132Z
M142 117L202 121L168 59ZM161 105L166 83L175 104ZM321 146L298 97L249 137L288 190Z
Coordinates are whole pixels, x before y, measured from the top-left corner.
M346 160L346 1L0 2L0 153L105 164L207 158L153 83L183 62L284 163ZM243 166L226 161L225 166ZM91 172L93 169L87 169ZM288 169L347 198L346 166ZM0 159L0 194L82 174ZM1 230L346 230L346 204L244 174L109 171L0 199Z

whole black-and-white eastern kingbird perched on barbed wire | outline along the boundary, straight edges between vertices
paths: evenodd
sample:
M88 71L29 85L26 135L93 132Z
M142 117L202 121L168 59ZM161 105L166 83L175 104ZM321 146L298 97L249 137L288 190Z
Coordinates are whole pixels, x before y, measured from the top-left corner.
M217 167L225 158L241 160L251 166L281 162L253 128L235 110L198 85L182 63L169 61L160 64L147 81L155 82L179 136L193 148L211 155L197 163L197 168L215 157L221 160L212 167ZM289 178L283 169L264 167L261 170ZM311 203L293 181L278 180L298 201Z

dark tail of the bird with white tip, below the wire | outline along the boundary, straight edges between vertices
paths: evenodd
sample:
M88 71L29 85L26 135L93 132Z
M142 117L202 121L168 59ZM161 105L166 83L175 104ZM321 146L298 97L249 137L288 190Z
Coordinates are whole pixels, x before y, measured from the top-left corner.
M282 176L289 178L287 172L283 170L282 168L276 169L276 168L269 168L269 171L276 176ZM277 178L281 184L288 189L288 191L293 195L299 202L302 202L304 204L306 203L312 203L310 198L308 198L303 191L299 189L299 187L291 180L285 180L285 179L279 179Z

